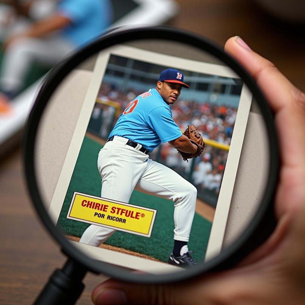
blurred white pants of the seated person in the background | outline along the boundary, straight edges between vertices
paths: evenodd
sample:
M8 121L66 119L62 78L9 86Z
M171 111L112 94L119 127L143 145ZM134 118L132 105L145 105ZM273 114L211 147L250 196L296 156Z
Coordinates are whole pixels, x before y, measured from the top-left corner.
M0 86L5 91L18 92L33 62L52 67L75 46L59 35L45 38L20 38L13 41L2 58Z

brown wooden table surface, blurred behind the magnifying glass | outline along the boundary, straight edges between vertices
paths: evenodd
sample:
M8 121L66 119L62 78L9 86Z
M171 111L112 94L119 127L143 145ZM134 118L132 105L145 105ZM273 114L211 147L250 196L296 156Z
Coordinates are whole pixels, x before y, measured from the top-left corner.
M202 34L220 45L241 36L305 91L304 27L280 23L252 1L179 0L171 25ZM52 270L65 258L40 224L27 194L21 149L0 161L0 304L30 304ZM77 304L91 304L91 290L103 276L88 274Z

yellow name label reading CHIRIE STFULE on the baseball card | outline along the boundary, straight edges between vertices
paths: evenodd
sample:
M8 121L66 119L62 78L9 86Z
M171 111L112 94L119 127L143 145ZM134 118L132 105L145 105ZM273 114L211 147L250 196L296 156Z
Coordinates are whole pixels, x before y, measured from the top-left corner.
M67 218L150 237L157 210L74 192Z

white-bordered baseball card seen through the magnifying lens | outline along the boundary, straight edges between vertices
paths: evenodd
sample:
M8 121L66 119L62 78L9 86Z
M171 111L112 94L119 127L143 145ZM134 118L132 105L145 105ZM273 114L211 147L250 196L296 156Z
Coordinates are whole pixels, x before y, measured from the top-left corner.
M219 62L130 45L100 52L89 74L54 221L90 257L145 272L219 254L247 87Z

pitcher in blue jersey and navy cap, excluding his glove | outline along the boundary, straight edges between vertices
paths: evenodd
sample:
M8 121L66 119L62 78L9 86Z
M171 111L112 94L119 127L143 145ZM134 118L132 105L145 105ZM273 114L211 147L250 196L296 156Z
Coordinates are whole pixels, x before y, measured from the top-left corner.
M175 171L149 159L161 142L169 142L186 153L198 147L182 134L174 122L173 105L182 87L182 73L175 69L161 72L155 89L131 101L100 150L98 169L102 176L101 197L128 203L134 189L174 202L174 249L168 263L180 267L196 265L187 242L195 213L197 189ZM90 225L80 242L99 246L116 230Z

